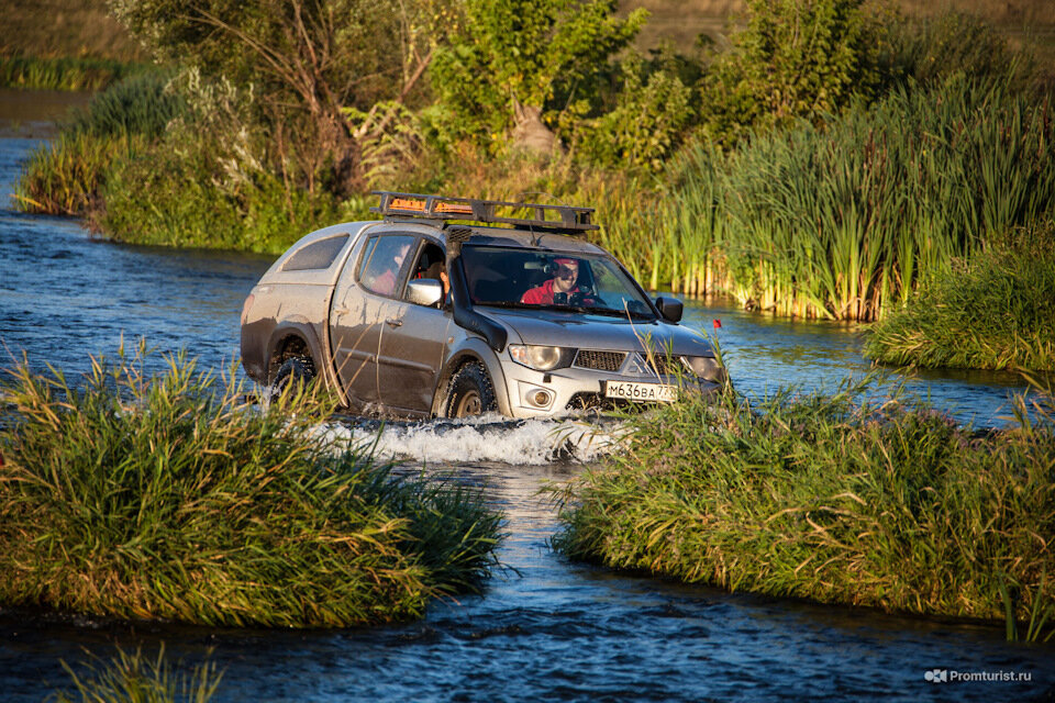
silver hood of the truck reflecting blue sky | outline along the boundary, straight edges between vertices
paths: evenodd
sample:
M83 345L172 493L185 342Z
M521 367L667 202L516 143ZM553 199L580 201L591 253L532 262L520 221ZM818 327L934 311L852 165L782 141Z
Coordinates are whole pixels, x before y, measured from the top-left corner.
M710 343L699 333L663 321L633 321L577 312L504 310L477 306L488 317L513 331L524 344L579 349L643 352L645 343L655 350L670 347L673 354L713 356Z

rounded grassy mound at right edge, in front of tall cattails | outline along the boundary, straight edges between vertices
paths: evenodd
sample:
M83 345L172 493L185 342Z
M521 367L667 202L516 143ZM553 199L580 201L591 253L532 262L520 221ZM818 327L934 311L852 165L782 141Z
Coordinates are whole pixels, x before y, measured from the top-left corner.
M1055 371L1055 223L1015 232L869 328L865 355L921 367Z

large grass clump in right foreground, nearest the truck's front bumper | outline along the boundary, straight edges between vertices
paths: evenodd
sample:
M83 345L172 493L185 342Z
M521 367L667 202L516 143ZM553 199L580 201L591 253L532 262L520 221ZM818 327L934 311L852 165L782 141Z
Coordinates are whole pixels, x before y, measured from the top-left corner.
M557 493L575 559L733 591L1025 623L1055 615L1055 403L976 433L906 401L729 393L632 421ZM1026 413L1028 402L1032 414ZM1045 625L1047 623L1047 626ZM1045 635L1047 636L1047 635Z

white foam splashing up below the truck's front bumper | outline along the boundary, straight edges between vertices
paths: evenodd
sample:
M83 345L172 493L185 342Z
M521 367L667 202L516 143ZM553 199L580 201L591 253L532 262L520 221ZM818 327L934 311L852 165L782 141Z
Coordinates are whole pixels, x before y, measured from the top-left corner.
M495 414L468 420L322 427L334 442L373 445L375 456L425 464L495 461L538 465L557 460L593 461L614 451L623 434L614 422L509 420ZM380 436L378 436L380 432Z

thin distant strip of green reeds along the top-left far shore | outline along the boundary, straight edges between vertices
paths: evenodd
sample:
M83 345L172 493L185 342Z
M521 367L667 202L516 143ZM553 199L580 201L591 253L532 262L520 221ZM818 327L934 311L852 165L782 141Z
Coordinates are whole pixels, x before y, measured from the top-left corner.
M75 56L0 56L0 87L31 90L102 90L151 70L149 64Z

